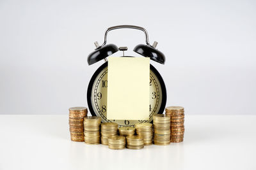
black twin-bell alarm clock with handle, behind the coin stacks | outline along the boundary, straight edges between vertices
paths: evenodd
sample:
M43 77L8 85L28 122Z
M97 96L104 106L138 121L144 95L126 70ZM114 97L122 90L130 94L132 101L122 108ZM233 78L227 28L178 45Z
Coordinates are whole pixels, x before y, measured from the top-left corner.
M164 64L165 57L162 52L156 49L157 42L155 41L153 45L148 42L148 32L143 27L138 27L135 25L117 25L114 27L109 27L104 34L104 43L99 45L97 41L95 42L96 49L88 55L88 64L92 65L100 60L104 60L105 63L100 66L93 74L87 90L87 102L88 108L93 116L101 117L102 122L116 122L119 127L129 126L134 127L137 123L152 122L153 115L162 114L166 104L166 87L162 76L159 74L157 69L150 64L150 81L149 87L150 92L149 97L149 118L148 120L108 120L108 107L107 107L107 96L108 94L108 59L109 55L120 51L127 50L127 47L120 47L107 44L107 34L109 31L114 29L138 29L145 33L146 44L140 44L135 46L134 52L139 53L143 57L150 57L151 60ZM132 57L132 56L123 56ZM136 83L136 82L134 82ZM120 110L122 111L122 110ZM131 106L132 111L132 106Z

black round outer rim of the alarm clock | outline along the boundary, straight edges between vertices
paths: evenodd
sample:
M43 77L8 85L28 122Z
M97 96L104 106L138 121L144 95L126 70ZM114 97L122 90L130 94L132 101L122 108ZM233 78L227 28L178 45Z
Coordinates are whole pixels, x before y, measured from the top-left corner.
M127 56L125 56L127 57ZM93 87L93 82L95 81L95 79L97 78L98 74L100 73L100 71L102 71L105 67L108 66L108 62L105 62L104 64L102 64L96 71L95 73L93 74L90 82L89 82L89 85L88 85L88 89L87 89L87 103L88 103L88 108L92 114L92 116L97 116L92 108L92 100L91 100L91 97L92 97L92 87ZM159 74L159 72L157 71L157 69L152 66L150 64L150 71L153 71L154 74L156 74L158 80L159 80L159 83L161 85L161 89L162 89L162 103L161 103L161 106L160 106L160 109L158 111L157 114L163 114L164 112L164 108L166 106L166 99L167 99L167 96L166 96L166 87L165 87L165 84L164 84L164 80L162 78L162 76Z

